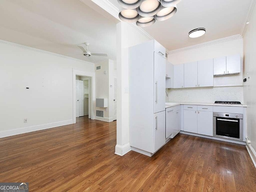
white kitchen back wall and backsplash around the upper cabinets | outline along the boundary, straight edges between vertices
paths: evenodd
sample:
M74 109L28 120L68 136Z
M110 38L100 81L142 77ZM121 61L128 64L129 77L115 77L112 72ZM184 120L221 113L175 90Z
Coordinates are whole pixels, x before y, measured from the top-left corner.
M169 54L168 61L170 61L172 64L182 64L186 62L218 58L221 56L229 56L234 54L240 54L241 63L243 63L242 38ZM214 77L214 86L225 85L228 87L169 89L168 100L170 102L181 100L186 102L214 102L215 100L235 100L243 103L244 98L242 86L230 86L242 84L243 64L241 64L241 73L239 75ZM184 97L184 93L188 93L188 97ZM198 95L200 95L200 97L198 97Z

